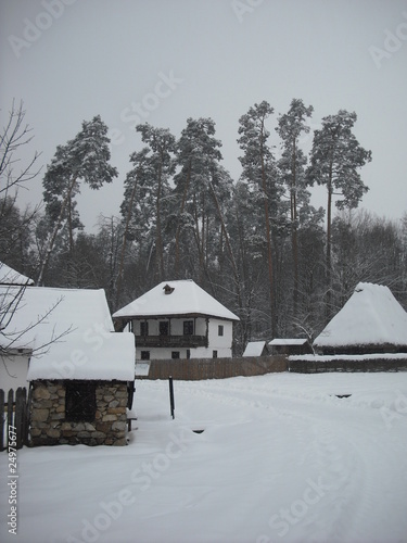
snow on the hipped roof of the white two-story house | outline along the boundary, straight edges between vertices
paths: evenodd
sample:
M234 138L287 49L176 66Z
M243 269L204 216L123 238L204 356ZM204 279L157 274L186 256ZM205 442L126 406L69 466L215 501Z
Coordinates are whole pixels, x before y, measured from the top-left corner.
M118 310L113 314L113 318L192 314L240 320L191 279L163 281Z

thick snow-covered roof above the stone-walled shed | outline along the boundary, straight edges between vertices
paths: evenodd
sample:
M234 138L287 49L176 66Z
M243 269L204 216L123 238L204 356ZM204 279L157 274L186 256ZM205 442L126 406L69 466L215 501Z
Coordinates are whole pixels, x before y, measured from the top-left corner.
M18 287L0 287L1 306L14 301L14 315L0 342L28 349L28 380L132 380L135 339L116 333L103 290L29 287L18 304Z

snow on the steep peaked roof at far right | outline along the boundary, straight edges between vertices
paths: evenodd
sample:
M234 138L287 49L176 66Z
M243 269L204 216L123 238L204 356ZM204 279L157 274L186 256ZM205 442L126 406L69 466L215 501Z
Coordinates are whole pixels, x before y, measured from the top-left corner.
M359 282L315 346L407 344L407 313L387 287Z

